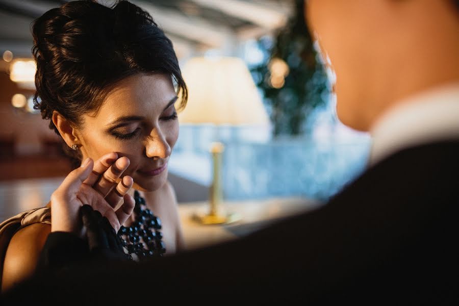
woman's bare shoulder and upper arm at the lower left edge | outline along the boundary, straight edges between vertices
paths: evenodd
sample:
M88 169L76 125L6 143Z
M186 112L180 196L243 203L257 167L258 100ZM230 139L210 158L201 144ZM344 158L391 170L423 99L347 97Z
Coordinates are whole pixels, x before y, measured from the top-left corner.
M47 223L33 223L17 231L8 245L2 275L2 291L31 275L51 232Z

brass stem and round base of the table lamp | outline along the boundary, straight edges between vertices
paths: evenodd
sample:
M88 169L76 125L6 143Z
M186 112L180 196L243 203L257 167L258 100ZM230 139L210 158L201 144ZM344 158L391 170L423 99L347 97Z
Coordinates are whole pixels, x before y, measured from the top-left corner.
M220 207L222 203L221 188L221 155L224 145L221 142L214 142L211 145L210 152L213 161L213 180L209 193L210 210L207 215L195 215L194 218L202 224L222 224L231 223L239 219L236 214L221 214Z

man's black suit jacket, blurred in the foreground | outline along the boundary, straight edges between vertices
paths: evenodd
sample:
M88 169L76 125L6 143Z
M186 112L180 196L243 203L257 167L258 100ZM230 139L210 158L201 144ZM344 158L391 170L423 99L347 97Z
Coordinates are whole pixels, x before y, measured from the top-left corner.
M75 304L456 303L458 175L459 141L405 149L320 209L244 239L147 263L71 266L3 298L29 301L45 290Z

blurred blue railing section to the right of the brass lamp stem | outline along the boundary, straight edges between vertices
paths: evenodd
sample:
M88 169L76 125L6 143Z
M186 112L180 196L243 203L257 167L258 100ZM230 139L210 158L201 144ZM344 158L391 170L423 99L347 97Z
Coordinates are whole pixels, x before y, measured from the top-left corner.
M223 165L225 196L326 200L363 171L368 147L365 141L333 140L228 144Z

